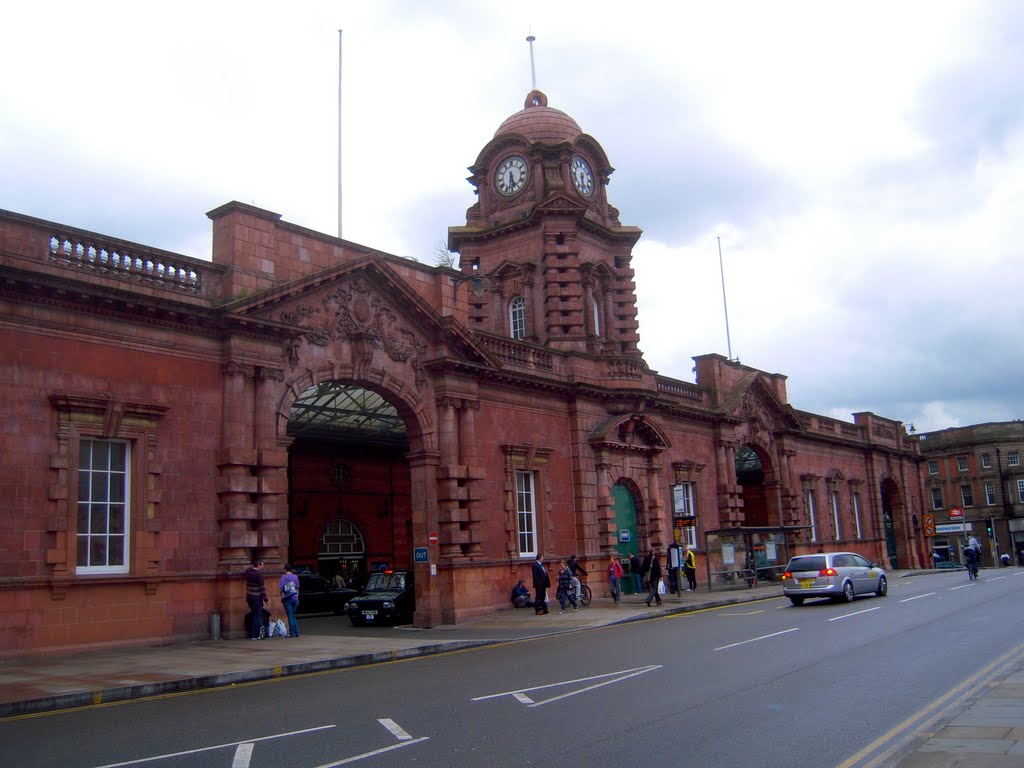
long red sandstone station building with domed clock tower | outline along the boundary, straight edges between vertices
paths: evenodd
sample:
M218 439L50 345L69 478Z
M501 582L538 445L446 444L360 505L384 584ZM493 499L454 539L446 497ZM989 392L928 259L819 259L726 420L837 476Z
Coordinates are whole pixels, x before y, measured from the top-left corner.
M821 547L921 564L901 424L647 367L641 231L575 121L530 93L471 171L461 271L240 203L212 262L0 212L3 653L238 636L254 557L415 568L420 626L506 607L538 553L599 595L685 539L715 589Z

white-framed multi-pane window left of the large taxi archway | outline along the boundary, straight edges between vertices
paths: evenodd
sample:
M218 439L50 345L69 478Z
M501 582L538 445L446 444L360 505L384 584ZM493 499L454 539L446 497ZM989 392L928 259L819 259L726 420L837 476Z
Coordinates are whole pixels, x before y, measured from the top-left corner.
M129 460L127 442L79 442L78 573L128 572Z

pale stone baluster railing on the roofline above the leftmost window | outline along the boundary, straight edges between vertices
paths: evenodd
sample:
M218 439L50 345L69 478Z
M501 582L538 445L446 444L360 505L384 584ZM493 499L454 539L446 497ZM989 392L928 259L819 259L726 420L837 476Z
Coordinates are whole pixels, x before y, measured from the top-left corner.
M187 256L103 243L94 238L54 232L50 236L50 261L62 266L93 270L188 293L202 294L203 273Z

